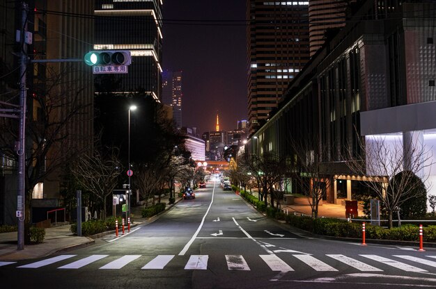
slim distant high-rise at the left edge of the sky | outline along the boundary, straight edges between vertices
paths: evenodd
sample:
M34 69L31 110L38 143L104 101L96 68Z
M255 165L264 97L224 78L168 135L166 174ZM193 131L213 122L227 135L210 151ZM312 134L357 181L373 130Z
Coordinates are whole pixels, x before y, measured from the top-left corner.
M162 102L173 108L173 119L182 127L182 72L164 71L162 74Z

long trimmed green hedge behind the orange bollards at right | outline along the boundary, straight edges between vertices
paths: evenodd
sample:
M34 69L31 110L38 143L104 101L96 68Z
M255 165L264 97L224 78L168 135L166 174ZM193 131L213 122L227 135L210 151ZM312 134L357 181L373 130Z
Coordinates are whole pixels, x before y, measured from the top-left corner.
M305 231L318 235L343 238L361 238L361 223L347 222L345 220L318 218L299 215L286 215L286 222ZM366 224L366 238L377 240L419 241L419 226L403 225L399 228L386 229L381 226ZM436 226L423 227L424 242L436 242Z

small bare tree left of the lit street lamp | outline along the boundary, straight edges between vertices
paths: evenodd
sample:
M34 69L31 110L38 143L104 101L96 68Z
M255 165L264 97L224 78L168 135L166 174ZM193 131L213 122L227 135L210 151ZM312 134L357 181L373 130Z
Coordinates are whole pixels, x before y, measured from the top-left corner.
M107 197L118 185L118 176L122 171L117 149L113 149L109 156L102 156L99 151L94 151L91 156L82 154L72 167L72 175L81 188L100 199L103 219L107 216Z

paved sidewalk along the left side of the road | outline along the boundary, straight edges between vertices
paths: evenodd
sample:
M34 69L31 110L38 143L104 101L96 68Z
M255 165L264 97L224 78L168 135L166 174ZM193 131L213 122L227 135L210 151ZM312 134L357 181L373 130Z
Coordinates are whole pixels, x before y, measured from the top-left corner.
M181 198L176 197L176 203ZM174 204L169 205L169 197L165 196L161 199L166 202L165 210L169 210ZM142 206L132 207L132 226L148 224L155 220L155 216L150 218L141 217ZM98 234L94 238L100 238L107 233ZM20 261L26 259L45 257L57 251L63 251L78 247L85 247L94 244L95 240L91 237L77 237L70 231L70 224L63 226L53 226L45 229L45 239L41 244L24 245L23 250L17 250L17 232L0 233L0 261Z

